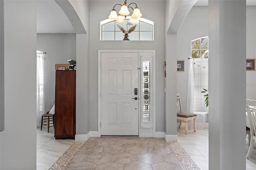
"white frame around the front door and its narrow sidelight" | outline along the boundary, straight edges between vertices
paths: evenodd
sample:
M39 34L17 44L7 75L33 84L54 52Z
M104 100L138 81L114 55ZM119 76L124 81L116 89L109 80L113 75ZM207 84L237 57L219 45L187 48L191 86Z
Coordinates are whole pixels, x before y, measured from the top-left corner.
M141 111L139 111L139 136L140 137L156 137L156 81L155 81L155 63L156 63L156 53L155 50L98 50L98 136L101 136L101 53L139 53L139 65L141 63L141 57L146 53L152 55L153 57L153 76L152 76L152 132L148 134L146 128L141 126ZM140 80L140 75L139 75ZM140 82L139 82L140 83ZM141 88L140 88L141 89ZM139 106L140 108L141 106Z

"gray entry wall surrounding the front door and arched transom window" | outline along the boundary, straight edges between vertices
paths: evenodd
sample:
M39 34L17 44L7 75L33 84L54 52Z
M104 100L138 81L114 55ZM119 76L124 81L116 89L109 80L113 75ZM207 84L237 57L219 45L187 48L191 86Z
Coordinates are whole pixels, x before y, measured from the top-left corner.
M129 2L128 2L129 3ZM136 1L142 18L154 22L154 41L100 41L100 21L108 19L120 1L90 1L90 131L98 130L98 50L156 50L156 131L164 131L164 1ZM104 6L105 8L102 8ZM117 8L119 10L119 8ZM155 12L157 9L158 12ZM98 14L100 11L100 14Z

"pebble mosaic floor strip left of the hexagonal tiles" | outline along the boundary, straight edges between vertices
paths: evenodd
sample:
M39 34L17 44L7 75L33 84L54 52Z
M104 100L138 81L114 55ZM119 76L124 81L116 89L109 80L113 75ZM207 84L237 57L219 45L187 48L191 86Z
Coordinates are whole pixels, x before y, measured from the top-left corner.
M51 166L49 170L65 170L70 160L82 148L85 141L75 141L66 152Z

